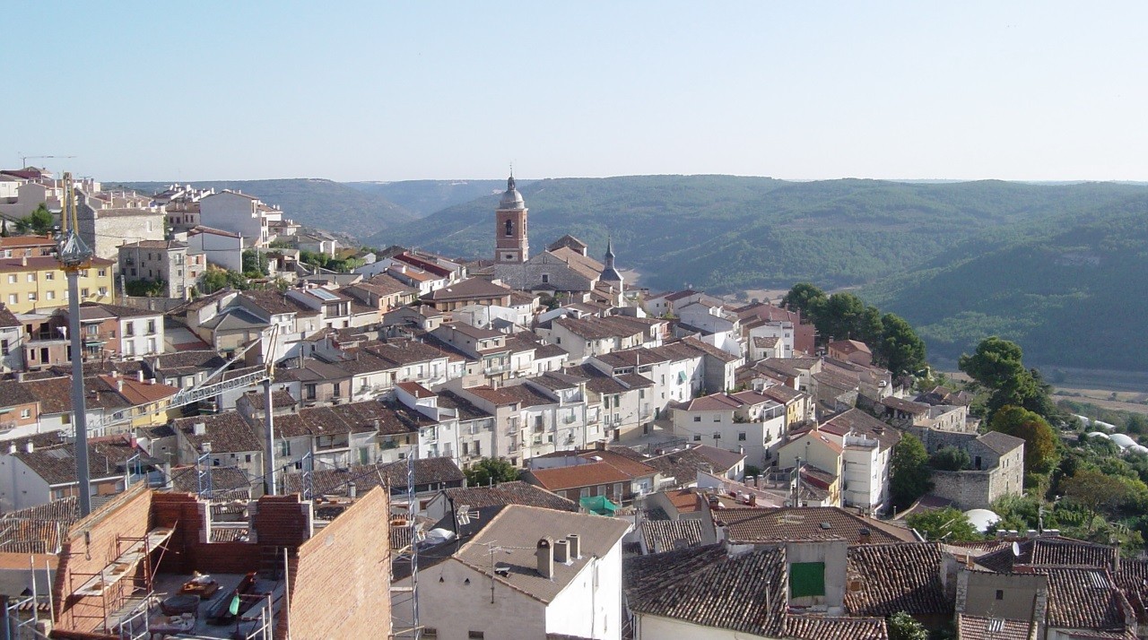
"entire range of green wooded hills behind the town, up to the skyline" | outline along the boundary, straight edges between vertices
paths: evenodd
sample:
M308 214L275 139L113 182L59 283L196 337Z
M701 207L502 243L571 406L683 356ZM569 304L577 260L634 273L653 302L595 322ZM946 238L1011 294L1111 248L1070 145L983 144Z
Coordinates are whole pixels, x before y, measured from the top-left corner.
M193 184L241 189L365 244L463 258L490 257L505 188L504 180ZM619 267L654 289L850 287L913 322L932 354L953 358L998 334L1041 366L1148 370L1145 184L630 175L518 185L532 251L568 233L600 259L610 237Z

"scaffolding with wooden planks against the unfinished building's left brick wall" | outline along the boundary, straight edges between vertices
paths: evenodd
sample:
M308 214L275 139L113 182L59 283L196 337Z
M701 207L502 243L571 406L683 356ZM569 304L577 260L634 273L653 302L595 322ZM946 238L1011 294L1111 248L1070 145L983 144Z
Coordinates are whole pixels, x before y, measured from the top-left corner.
M72 617L77 621L91 621L90 625L84 626L102 630L104 633L119 633L121 627L134 629L125 623L139 618L141 608L146 618L147 604L153 595L155 571L152 553L160 552L160 557L155 562L158 565L173 531L174 526L161 526L153 529L146 536L116 536L116 557L104 564L103 569L96 573L70 572L68 586L71 598L99 599L98 615L87 612L90 610L87 608L75 607L71 611Z

